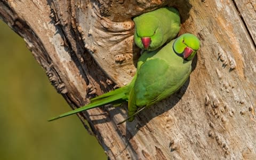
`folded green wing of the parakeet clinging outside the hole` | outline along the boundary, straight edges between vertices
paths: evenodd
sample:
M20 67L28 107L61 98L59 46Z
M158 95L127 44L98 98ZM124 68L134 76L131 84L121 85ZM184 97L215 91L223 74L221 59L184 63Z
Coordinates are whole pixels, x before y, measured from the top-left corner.
M141 111L157 102L169 81L166 77L168 69L167 62L161 59L148 59L140 66L128 101L130 122L133 121L133 116L139 113L138 110Z

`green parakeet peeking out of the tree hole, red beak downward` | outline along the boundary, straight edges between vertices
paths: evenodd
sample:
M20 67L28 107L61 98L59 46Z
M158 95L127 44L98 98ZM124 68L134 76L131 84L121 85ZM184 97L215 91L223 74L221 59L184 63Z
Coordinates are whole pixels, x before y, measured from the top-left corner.
M143 50L154 51L175 38L180 30L180 15L174 7L163 7L133 19L134 41Z

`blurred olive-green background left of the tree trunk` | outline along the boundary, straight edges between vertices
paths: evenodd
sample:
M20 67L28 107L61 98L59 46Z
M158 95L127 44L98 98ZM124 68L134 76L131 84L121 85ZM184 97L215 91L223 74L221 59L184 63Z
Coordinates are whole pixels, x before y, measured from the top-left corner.
M0 159L107 159L21 37L0 20Z

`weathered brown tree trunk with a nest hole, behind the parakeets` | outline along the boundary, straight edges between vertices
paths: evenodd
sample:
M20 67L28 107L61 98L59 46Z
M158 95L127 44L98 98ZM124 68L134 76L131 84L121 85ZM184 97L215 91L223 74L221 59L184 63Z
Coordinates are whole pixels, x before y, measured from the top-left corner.
M190 79L132 123L117 125L125 105L79 117L110 159L255 159L255 0L2 0L0 16L76 108L131 81L139 53L131 18L165 5L180 11L180 34L201 40Z

